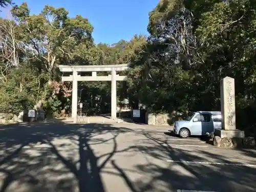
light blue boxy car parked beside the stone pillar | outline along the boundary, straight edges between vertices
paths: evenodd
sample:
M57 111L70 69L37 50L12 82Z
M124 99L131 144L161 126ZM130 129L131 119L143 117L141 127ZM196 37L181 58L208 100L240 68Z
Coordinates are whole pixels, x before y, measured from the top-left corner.
M198 111L182 121L175 121L174 133L181 138L201 136L221 129L221 112Z

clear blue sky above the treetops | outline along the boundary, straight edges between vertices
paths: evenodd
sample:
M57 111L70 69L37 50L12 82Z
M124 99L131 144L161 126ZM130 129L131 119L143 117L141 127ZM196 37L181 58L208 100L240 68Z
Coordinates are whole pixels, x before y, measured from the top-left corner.
M21 0L13 0L21 4ZM27 0L31 13L39 13L48 4L64 7L69 16L87 17L94 27L96 43L113 44L120 39L129 40L134 34L147 35L148 13L159 0ZM1 15L6 14L6 10Z

